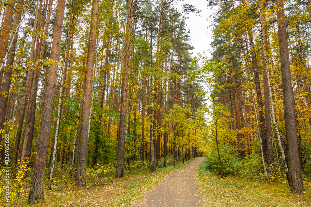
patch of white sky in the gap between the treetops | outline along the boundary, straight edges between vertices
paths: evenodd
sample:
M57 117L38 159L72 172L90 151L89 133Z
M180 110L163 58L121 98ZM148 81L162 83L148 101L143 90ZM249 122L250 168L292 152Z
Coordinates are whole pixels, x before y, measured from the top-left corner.
M190 29L190 42L194 46L193 57L197 55L198 52L206 52L209 57L210 54L210 44L212 42L211 29L207 29L211 25L212 18L210 15L213 13L210 7L207 7L206 0L183 0L178 2L179 10L182 10L183 4L192 4L197 9L202 10L200 13L201 17L195 16L195 14L188 14L186 19L187 28Z

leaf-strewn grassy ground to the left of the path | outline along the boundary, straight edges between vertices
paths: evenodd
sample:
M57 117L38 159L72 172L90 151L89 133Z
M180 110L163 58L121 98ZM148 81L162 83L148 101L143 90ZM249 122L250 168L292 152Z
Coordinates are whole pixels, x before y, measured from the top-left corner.
M172 158L169 158L172 159ZM168 159L168 165L172 162ZM189 162L189 161L188 161ZM35 205L26 206L128 206L141 199L146 191L155 186L171 170L178 169L185 164L182 161L176 162L176 166L163 166L161 162L157 171L150 173L150 163L132 162L127 166L123 178L114 178L115 168L111 165L96 171L87 169L87 187L79 188L75 182L63 171L57 171L53 178L52 190L48 190L48 179L44 183L44 198ZM142 166L143 165L143 166ZM67 176L67 177L66 177ZM2 182L0 174L0 182ZM10 203L4 202L3 192L0 192L0 206L25 206L28 200L31 176L26 178L23 185L23 192L15 203L15 197L10 199ZM12 189L14 190L14 189ZM2 191L2 190L1 190ZM11 194L12 195L12 194Z

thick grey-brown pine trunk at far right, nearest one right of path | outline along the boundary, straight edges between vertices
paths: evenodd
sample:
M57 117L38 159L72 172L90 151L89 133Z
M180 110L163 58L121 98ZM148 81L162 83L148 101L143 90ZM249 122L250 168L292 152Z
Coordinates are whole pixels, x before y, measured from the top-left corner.
M294 94L291 84L290 60L288 54L288 42L286 38L286 23L283 0L276 0L276 16L279 34L280 63L282 75L284 119L287 141L288 168L290 173L291 193L304 192L301 166L298 151L298 136L295 118Z

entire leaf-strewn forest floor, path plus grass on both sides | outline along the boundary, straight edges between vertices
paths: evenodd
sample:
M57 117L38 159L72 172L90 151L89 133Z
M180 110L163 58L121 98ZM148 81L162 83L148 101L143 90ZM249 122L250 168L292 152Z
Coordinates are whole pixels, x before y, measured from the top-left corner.
M157 167L157 171L153 173L149 171L149 163L133 162L131 169L125 170L123 178L114 178L114 167L111 167L110 174L106 173L108 168L103 167L106 177L98 175L98 171L90 171L86 188L75 187L71 178L60 175L67 174L66 172L57 171L52 190L47 189L46 179L45 200L26 207L311 206L311 182L306 178L305 194L298 196L291 194L288 184L282 180L267 181L241 176L227 176L222 179L208 171L203 160L204 158L196 158L184 164L183 161L177 162L174 167ZM139 164L143 164L143 167ZM9 204L3 202L3 192L0 192L0 206L25 206L30 179L31 176L25 179L20 196L16 200L11 196ZM0 181L2 183L1 175ZM11 191L13 195L14 191L16 190Z

